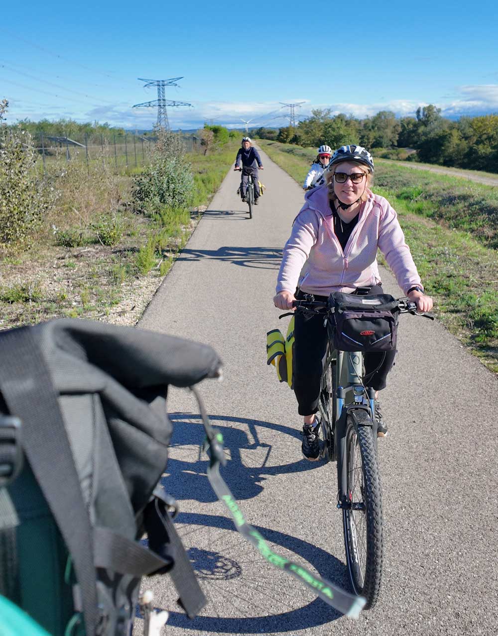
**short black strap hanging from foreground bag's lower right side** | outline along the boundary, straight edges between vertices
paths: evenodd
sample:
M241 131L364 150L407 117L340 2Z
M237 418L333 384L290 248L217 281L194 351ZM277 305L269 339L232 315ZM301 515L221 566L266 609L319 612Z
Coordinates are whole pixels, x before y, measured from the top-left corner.
M178 602L187 612L187 616L194 618L206 605L206 597L197 582L192 563L174 527L168 511L167 495L162 494L161 490L159 488L154 490L152 501L148 503L144 511L149 548L164 559L172 558L173 568L169 570L169 574L180 597Z

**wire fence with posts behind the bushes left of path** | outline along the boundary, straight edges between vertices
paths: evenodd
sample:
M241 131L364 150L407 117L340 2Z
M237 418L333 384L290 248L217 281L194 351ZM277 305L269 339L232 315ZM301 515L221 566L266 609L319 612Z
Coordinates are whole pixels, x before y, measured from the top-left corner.
M196 135L182 135L187 152L201 150L201 140ZM133 133L111 133L80 137L57 137L40 132L33 136L33 144L43 171L53 163L80 162L90 168L126 172L150 163L157 137Z

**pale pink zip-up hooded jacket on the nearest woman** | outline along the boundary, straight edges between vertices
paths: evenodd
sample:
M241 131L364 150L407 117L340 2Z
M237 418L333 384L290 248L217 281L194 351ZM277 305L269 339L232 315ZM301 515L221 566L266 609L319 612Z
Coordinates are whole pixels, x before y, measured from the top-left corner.
M367 193L344 251L334 232L327 185L306 193L283 248L277 293L294 293L299 286L305 293L328 296L332 291L378 285L377 248L403 293L413 285L422 287L396 212L385 198Z

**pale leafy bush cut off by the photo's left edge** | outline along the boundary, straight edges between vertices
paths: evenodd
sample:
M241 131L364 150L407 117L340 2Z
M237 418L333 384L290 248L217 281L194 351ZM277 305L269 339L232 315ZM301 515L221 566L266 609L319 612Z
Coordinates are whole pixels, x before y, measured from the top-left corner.
M0 118L6 110L1 104ZM49 198L34 170L31 135L0 124L0 247L28 247Z

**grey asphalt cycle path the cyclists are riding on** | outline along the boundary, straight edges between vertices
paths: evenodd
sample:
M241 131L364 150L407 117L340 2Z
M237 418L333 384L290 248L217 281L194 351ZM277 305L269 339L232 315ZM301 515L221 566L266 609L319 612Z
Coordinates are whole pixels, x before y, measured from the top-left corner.
M200 385L230 461L222 474L274 551L350 589L336 465L301 455L294 395L266 364L266 331L287 320L272 298L303 193L262 153L267 190L248 219L230 171L139 323L212 345L224 381ZM389 293L401 296L383 271ZM170 389L174 424L164 486L208 597L189 621L168 576L147 581L170 614L168 635L494 634L497 615L498 382L438 322L401 316L399 354L381 394L385 518L383 588L358 621L275 569L235 531L206 477L197 403ZM136 634L141 620L137 621Z

